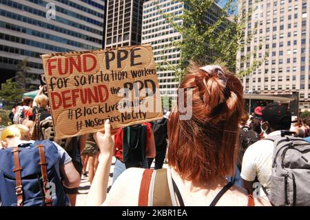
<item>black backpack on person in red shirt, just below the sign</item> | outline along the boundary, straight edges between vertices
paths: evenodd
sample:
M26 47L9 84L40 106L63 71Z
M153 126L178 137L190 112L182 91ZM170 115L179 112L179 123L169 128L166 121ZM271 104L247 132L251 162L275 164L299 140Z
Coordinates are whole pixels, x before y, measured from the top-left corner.
M123 128L123 162L126 168L142 168L146 159L147 126L127 126Z

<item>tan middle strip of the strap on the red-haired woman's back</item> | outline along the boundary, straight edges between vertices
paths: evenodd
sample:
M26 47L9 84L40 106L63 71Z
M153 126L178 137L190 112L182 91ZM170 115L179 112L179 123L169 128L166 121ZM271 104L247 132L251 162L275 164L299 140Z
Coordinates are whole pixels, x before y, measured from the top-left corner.
M152 206L172 206L167 169L156 170Z

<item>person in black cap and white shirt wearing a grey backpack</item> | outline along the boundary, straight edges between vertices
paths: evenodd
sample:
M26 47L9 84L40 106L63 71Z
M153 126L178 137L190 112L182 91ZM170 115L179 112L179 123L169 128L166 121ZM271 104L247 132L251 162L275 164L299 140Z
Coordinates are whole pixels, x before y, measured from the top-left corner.
M247 148L242 159L241 178L243 187L249 193L254 191L256 178L263 187L258 187L260 197L266 197L265 190L270 192L271 163L273 156L273 141L268 137L280 135L280 130L289 130L291 126L291 112L285 104L270 103L262 110L260 124L265 139L257 141Z

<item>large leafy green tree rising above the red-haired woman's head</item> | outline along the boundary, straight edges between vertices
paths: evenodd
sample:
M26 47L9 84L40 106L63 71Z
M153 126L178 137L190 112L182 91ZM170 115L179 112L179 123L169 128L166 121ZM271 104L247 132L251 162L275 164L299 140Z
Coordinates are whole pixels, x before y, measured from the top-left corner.
M172 0L174 2L176 0ZM246 56L240 58L240 62L251 62L251 66L242 70L236 68L236 57L241 48L247 48L257 31L257 27L247 34L245 30L247 23L251 21L252 9L241 8L238 14L234 15L238 3L235 0L228 0L223 8L214 6L216 0L178 0L183 3L182 14L164 12L156 1L157 9L168 23L180 34L182 38L174 41L172 46L180 50L180 60L177 65L172 65L169 61L160 66L160 70L172 70L175 72L178 81L185 74L185 69L190 61L195 61L201 65L218 63L227 66L232 72L236 72L240 77L256 70L265 60L265 57L258 59L256 52L261 48L254 48ZM255 7L255 2L252 8ZM214 23L206 23L206 12L218 17ZM231 19L233 17L233 19Z

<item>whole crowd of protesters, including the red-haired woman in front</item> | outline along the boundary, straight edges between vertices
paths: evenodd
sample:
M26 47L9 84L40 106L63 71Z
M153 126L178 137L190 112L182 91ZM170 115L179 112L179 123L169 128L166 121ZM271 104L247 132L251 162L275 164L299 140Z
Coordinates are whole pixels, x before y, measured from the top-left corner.
M58 153L54 175L61 179L64 189L56 192L57 198L65 193L68 199L56 199L57 203L45 199L43 205L74 206L82 174L91 183L87 206L310 205L309 198L301 194L307 191L300 188L302 184L309 185L310 180L300 181L300 173L296 172L302 168L306 170L304 176L309 176L310 117L303 121L292 119L288 106L282 103L258 106L249 115L244 109L240 80L222 66L202 67L192 63L179 88L185 89L182 97L187 96L187 89L192 92L189 119L180 119L179 100L172 112L165 112L163 119L118 129L112 129L107 120L104 132L67 139L54 138L49 100L40 88L33 101L24 99L22 105L14 106L11 114L14 125L3 130L1 145L3 150L41 144L54 146ZM285 141L289 147L282 146L285 152L280 161L284 171L278 172L275 170L278 153L275 156L274 151ZM15 163L16 151L12 150L14 173L16 177L21 175L22 186L24 168ZM21 167L25 157L22 152L23 149L19 157ZM50 159L48 149L45 152ZM285 159L291 154L291 161ZM0 150L0 160L5 158L1 155ZM41 156L35 155L40 166L44 165ZM112 157L116 162L112 188L107 194ZM166 160L167 168L163 169ZM1 187L4 181L1 172L6 170L3 163L0 162L2 205L37 204L28 203L29 198L25 194L19 197L17 191L17 196L6 196ZM44 182L43 171L41 174ZM255 183L260 187L256 188ZM17 188L4 190L15 194Z

